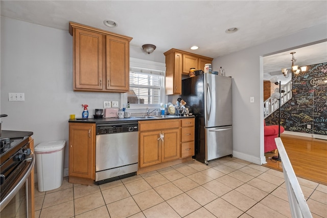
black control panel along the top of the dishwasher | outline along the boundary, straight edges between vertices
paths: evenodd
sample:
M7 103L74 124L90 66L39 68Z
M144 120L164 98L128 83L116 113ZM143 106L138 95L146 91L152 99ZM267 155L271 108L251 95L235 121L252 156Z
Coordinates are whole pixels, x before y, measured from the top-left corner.
M138 132L138 123L97 124L97 135Z

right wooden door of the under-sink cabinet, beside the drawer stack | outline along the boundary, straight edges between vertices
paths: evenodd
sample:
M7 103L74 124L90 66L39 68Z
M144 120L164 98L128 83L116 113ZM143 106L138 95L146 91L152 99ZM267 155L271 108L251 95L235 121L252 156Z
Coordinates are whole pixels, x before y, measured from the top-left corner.
M165 130L161 132L164 137L162 143L162 162L172 161L179 158L179 134L178 129Z

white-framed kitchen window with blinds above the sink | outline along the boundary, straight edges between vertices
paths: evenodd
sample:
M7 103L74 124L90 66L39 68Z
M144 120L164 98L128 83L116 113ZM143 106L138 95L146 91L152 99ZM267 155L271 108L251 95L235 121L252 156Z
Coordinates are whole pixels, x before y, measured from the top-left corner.
M129 92L121 95L131 108L158 107L166 102L166 64L130 58Z

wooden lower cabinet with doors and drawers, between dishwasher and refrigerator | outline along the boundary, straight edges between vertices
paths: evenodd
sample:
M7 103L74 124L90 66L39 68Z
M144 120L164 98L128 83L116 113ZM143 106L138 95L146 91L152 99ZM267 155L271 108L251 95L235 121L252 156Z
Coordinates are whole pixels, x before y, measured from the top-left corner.
M194 118L138 123L139 168L194 156Z

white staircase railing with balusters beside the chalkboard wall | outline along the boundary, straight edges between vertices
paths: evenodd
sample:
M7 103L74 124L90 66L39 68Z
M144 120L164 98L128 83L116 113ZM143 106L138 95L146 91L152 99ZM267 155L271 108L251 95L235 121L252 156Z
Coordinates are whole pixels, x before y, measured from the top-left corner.
M288 100L292 98L292 80L290 80L285 85L282 85L281 90L284 90L284 93L281 93L281 106L285 104ZM269 97L264 102L264 119L274 113L279 108L279 99L274 99Z

